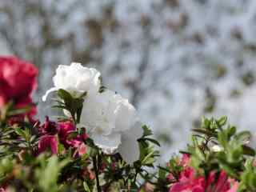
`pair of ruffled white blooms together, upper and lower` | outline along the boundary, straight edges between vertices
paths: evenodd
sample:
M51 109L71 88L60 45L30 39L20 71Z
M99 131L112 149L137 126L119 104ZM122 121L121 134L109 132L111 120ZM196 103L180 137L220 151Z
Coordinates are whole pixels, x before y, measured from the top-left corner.
M95 145L106 154L119 152L126 162L139 158L137 139L142 137L142 125L137 111L126 98L111 90L99 92L100 73L79 63L58 66L54 76L54 88L78 95L88 92L81 114L81 124L89 131ZM46 96L44 96L46 98ZM45 99L44 98L44 99ZM69 115L66 113L66 115Z

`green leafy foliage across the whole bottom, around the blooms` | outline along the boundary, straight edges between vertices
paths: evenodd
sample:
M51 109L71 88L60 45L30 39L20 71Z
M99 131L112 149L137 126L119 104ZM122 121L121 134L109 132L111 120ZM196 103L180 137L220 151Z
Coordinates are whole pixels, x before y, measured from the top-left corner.
M79 103L85 97L86 94L73 98L59 90L58 105L54 107L74 114L64 121L79 122L81 106L70 103ZM186 155L189 160L175 155L167 166L156 169L159 154L155 146L160 144L151 137L153 133L146 125L142 126L143 135L138 139L140 158L130 165L120 154L105 154L90 138L83 140L86 153L80 155L78 149L66 148L60 136L58 154L50 150L38 154L41 123L27 117L17 120L18 114L13 115L14 112L11 103L1 110L0 185L7 191L174 191L172 187L181 182L187 167L197 173L194 178L201 175L207 179L213 171L218 175L224 171L228 178L239 183L234 191L256 190L255 151L246 145L250 132L238 132L235 126L227 125L226 117L202 118L201 126L193 130L187 150L181 151L183 158ZM86 134L84 128L76 129L68 135L69 140Z

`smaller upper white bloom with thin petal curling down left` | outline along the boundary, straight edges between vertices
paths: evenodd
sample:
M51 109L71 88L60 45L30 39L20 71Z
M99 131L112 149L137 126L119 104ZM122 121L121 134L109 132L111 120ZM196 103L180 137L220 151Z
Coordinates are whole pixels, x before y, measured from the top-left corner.
M101 86L100 73L93 68L87 68L80 63L72 62L70 66L58 66L53 78L54 87L46 91L43 101L50 92L63 89L74 97L87 91L87 94L96 94Z

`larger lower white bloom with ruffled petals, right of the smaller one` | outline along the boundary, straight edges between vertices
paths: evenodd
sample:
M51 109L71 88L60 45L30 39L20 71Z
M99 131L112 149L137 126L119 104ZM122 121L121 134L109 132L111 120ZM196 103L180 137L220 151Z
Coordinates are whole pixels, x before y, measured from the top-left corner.
M81 123L106 154L119 152L128 163L138 160L137 139L142 137L142 126L134 106L121 95L105 90L87 97Z

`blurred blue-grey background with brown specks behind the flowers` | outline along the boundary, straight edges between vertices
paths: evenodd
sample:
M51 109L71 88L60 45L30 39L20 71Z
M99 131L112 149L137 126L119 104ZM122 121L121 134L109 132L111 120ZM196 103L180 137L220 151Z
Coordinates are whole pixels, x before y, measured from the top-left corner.
M0 0L0 54L40 69L82 62L138 108L162 160L186 147L202 114L256 126L255 0Z

